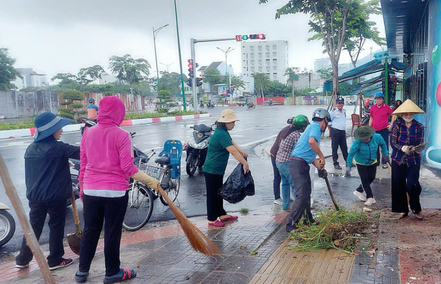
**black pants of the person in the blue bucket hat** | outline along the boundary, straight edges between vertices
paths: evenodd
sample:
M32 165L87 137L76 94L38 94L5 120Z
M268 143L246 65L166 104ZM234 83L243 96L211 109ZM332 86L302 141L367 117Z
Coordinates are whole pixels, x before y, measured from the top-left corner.
M64 255L64 225L66 223L66 200L36 202L29 201L29 222L34 231L35 237L40 239L46 215L49 214L49 266L57 266L63 261ZM19 265L25 265L32 260L32 252L26 245L23 237L20 254L16 258Z

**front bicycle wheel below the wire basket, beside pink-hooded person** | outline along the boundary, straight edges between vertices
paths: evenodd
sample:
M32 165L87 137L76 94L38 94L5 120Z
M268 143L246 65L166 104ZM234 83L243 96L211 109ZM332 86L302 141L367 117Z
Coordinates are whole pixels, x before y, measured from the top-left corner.
M146 186L135 183L129 186L129 202L123 227L129 231L141 229L153 212L153 194Z

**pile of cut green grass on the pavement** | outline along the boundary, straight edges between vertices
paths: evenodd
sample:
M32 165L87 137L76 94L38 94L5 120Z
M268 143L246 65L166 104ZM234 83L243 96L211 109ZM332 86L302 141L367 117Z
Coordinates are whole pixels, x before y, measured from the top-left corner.
M318 224L299 222L298 228L290 233L298 245L290 249L318 251L334 248L353 254L357 249L357 239L365 238L361 233L368 225L368 218L363 213L342 208L338 211L329 209L320 211L315 219Z

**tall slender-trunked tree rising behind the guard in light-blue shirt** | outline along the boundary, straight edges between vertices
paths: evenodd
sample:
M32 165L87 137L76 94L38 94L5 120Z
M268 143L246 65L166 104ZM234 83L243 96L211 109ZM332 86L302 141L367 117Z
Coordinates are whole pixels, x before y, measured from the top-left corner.
M268 0L259 2L266 3ZM346 23L351 3L352 0L289 0L276 13L276 19L287 14L311 15L310 32L315 34L309 40L323 41L333 69L333 94L337 94L338 91L338 61L346 39Z

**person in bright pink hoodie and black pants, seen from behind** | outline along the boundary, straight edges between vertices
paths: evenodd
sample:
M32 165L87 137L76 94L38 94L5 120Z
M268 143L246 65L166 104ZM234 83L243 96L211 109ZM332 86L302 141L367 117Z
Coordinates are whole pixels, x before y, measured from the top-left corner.
M152 189L157 188L159 181L133 164L131 135L119 128L126 115L121 99L104 97L99 107L98 125L84 132L80 145L78 181L84 231L75 278L78 282L87 280L104 223L104 283L115 283L136 276L133 270L120 268L121 230L129 200L129 178Z

